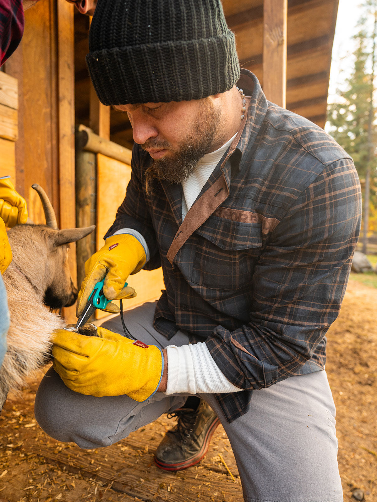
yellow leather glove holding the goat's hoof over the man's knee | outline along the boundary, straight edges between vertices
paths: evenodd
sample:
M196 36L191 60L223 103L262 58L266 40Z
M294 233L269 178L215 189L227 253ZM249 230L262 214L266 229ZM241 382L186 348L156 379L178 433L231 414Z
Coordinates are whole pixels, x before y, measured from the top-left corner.
M123 396L145 401L161 381L163 354L155 345L130 340L105 328L98 336L57 329L53 366L64 384L87 396Z

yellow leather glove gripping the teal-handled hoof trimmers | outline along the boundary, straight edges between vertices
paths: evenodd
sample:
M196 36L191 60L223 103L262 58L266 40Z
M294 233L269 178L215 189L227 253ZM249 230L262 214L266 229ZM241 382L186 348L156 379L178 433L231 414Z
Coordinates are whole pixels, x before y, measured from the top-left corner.
M104 247L85 262L86 276L77 297L77 317L81 315L93 288L104 278L104 295L108 300L136 296L135 290L124 284L130 274L139 272L145 261L144 247L133 235L121 233L108 237ZM119 312L119 307L108 303L104 310Z

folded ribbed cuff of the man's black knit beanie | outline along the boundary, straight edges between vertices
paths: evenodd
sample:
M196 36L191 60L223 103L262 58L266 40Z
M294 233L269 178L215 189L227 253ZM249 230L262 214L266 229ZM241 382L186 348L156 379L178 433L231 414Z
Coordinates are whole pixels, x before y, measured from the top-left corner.
M87 54L105 105L190 101L225 92L240 76L234 34L102 49Z

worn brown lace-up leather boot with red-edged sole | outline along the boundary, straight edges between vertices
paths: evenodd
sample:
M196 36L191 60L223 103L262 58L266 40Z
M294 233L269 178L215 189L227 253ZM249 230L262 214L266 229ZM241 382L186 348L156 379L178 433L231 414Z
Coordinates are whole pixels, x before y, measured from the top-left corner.
M212 408L197 397L187 399L182 408L168 415L171 417L178 417L178 423L158 445L154 461L160 469L177 471L202 460L220 420Z

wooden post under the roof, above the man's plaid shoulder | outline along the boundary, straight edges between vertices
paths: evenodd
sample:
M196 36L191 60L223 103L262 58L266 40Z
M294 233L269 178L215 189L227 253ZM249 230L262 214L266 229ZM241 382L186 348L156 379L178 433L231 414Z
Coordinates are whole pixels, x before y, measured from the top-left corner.
M264 0L263 91L269 101L286 107L288 0Z

